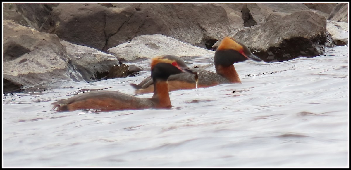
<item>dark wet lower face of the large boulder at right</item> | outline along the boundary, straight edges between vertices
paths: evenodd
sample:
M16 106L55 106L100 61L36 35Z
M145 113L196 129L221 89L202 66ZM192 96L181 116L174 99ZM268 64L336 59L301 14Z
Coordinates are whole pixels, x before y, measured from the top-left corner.
M251 52L265 62L289 61L298 57L315 57L324 53L323 45L319 45L323 44L318 41L320 39L323 38L314 40L303 37L291 38L283 40L279 47L270 47L266 52L255 52L255 50L251 50Z

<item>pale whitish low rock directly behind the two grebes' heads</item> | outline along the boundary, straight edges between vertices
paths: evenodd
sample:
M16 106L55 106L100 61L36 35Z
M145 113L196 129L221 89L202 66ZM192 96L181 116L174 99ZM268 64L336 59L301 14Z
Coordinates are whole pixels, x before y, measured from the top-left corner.
M174 38L155 34L140 35L133 40L107 50L121 62L138 62L159 55L200 56L214 54L214 51L192 46Z

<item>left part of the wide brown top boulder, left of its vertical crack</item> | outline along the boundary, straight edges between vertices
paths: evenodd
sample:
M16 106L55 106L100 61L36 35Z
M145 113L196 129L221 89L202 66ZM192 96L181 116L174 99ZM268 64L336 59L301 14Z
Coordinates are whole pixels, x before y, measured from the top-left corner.
M101 50L106 44L107 9L97 3L60 3L52 10L40 31L56 34L73 44Z

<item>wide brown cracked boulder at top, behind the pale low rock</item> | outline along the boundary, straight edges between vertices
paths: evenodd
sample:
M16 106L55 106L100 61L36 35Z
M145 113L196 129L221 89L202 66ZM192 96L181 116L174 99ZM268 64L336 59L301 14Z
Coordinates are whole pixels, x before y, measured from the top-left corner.
M41 30L107 51L135 36L163 34L211 48L230 32L227 12L209 3L60 3Z

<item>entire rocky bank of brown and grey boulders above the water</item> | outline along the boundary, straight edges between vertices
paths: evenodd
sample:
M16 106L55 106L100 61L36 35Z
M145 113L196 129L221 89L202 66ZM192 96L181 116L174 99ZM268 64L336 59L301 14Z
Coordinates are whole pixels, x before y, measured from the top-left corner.
M3 3L3 93L55 80L125 77L147 70L138 62L157 55L213 55L224 36L265 62L323 55L348 44L348 6Z

